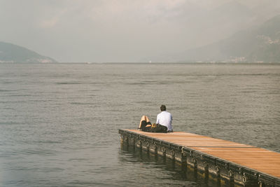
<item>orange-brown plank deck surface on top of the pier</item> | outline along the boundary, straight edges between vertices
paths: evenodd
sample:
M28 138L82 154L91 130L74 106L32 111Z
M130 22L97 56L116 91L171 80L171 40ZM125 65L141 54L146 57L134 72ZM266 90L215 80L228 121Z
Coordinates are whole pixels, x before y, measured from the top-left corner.
M165 134L138 130L128 131L192 148L216 158L280 178L280 153L274 151L187 132Z

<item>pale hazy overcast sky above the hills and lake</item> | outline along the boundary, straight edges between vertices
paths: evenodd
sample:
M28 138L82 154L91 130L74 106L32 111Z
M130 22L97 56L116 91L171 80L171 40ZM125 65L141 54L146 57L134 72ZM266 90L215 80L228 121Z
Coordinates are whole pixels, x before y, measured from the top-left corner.
M59 62L138 62L277 14L279 0L0 0L0 41Z

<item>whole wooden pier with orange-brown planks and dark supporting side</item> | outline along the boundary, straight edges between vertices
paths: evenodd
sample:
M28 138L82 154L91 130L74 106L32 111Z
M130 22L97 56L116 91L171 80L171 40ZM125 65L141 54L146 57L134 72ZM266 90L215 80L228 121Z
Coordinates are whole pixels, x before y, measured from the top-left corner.
M187 132L119 130L121 143L241 186L280 186L280 153Z

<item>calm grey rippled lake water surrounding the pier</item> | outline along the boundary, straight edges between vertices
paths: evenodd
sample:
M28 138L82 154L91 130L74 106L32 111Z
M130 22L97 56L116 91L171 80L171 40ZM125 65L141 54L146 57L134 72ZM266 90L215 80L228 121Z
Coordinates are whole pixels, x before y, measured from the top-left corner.
M176 131L280 151L280 65L0 64L0 186L207 186L120 148L161 104Z

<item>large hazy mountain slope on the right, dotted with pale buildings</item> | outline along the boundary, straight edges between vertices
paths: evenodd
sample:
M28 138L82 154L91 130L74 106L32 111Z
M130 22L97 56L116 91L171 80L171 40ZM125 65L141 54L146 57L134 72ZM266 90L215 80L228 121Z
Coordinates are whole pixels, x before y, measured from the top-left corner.
M175 58L181 62L280 62L280 15Z

